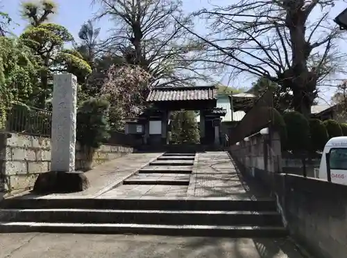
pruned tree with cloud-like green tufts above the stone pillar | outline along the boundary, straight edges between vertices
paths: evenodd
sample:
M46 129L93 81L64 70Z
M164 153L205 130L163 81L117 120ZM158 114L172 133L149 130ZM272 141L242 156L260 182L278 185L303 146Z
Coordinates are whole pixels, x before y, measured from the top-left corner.
M22 15L31 26L26 28L20 39L41 59L41 87L36 89L37 104L41 107L44 107L46 98L51 94L49 82L53 73L74 73L80 83L91 73L89 64L77 51L64 49L65 44L74 41L69 31L58 24L46 23L49 15L55 13L55 9L56 4L48 0L22 4Z

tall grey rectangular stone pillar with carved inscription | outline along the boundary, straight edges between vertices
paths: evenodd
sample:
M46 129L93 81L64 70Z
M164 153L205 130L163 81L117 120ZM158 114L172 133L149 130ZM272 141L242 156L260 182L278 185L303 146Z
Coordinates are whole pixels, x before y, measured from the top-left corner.
M75 171L77 78L70 73L53 77L51 170Z

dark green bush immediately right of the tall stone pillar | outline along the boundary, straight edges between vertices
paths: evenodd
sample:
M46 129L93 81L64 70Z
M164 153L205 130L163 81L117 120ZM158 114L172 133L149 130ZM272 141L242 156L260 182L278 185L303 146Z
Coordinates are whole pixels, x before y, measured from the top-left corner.
M107 100L90 98L82 102L77 111L76 140L81 146L99 148L108 140L108 108Z

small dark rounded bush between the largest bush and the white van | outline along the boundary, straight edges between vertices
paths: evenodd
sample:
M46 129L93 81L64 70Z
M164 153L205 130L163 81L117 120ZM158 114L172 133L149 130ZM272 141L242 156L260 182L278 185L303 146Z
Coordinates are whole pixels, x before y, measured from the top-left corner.
M319 119L310 119L310 151L322 151L329 140L328 131Z

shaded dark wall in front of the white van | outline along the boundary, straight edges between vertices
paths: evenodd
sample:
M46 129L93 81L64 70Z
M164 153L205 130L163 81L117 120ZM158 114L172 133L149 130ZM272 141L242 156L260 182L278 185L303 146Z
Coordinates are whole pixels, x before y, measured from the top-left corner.
M280 210L289 232L316 258L347 254L347 186L275 174Z

